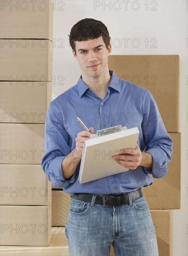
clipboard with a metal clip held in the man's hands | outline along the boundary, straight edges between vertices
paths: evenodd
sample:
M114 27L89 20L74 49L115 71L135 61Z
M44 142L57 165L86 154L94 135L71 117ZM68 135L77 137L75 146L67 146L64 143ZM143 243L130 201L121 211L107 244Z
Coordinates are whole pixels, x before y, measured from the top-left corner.
M139 130L137 127L127 129L117 125L98 130L84 142L80 164L79 182L91 182L110 175L128 171L113 160L114 155L120 155L123 148L136 148Z

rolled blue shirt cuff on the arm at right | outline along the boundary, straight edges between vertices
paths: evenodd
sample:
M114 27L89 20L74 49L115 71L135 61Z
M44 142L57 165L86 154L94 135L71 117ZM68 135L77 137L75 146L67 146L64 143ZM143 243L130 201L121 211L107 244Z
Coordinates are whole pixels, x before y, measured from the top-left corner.
M150 148L145 152L149 152L153 158L153 165L151 168L143 167L146 174L152 174L154 178L161 178L167 174L167 164L165 159L165 152L160 148Z

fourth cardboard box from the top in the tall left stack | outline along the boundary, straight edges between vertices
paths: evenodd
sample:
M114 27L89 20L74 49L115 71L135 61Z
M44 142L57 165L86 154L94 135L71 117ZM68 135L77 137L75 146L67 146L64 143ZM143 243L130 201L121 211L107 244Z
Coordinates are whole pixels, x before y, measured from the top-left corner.
M44 155L45 124L0 124L0 163L40 164Z

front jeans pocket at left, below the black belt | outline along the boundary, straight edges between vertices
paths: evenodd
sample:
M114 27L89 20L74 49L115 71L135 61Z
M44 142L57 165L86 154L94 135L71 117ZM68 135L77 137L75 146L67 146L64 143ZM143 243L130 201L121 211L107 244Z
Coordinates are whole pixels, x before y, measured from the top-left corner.
M74 198L71 198L71 204L69 212L73 215L83 215L88 212L90 208L89 202L80 201Z

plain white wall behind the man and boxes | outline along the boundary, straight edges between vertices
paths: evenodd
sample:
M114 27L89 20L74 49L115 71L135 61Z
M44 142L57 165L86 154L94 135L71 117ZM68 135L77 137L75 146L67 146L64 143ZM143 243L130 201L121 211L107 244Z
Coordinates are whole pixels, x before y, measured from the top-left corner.
M181 209L173 210L173 256L187 256L187 63L188 1L61 1L54 2L52 99L73 86L80 76L71 54L68 34L84 18L101 20L108 27L112 54L178 54L180 83L180 132L182 133ZM108 5L108 6L107 6ZM110 7L109 7L110 5ZM111 9L111 10L110 10ZM147 10L148 9L148 10ZM128 38L127 45L125 40ZM137 38L137 40L134 40ZM148 39L148 47L144 40ZM131 45L130 41L133 45ZM151 40L151 41L150 41ZM139 47L136 42L140 42ZM153 47L151 47L153 45ZM167 74L168 75L168 74ZM168 198L167 198L168 200Z

